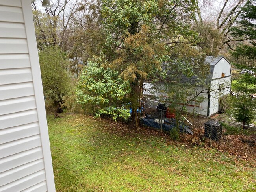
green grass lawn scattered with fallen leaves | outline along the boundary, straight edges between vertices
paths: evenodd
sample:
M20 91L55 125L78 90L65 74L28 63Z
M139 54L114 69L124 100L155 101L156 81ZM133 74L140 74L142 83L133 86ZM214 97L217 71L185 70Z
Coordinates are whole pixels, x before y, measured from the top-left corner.
M170 142L149 128L48 115L57 192L255 191L254 162Z

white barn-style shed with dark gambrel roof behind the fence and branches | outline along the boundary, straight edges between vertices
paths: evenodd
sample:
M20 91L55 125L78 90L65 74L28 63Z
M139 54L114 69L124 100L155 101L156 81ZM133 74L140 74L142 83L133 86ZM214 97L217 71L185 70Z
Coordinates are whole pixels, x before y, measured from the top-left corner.
M210 65L210 74L206 77L206 85L196 87L197 92L201 92L198 96L203 97L204 101L202 103L191 101L187 103L186 108L191 113L211 116L220 111L219 98L231 92L231 66L223 56L208 56L205 63ZM193 83L195 79L197 77L193 76L184 78L183 81ZM165 94L154 92L151 83L146 83L144 87L143 94L146 97L150 98L150 95L165 96Z

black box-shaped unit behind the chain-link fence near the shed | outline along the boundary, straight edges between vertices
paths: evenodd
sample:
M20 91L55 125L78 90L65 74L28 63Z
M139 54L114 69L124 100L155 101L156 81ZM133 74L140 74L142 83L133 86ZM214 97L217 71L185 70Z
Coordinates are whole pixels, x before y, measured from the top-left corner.
M204 124L204 136L218 141L222 136L222 125L216 120L209 120Z

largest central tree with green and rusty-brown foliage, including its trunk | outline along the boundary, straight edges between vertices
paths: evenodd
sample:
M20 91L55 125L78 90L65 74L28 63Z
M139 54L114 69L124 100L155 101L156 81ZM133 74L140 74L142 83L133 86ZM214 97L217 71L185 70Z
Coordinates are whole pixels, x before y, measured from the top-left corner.
M191 59L195 51L192 47L196 44L196 33L187 22L192 18L194 3L190 0L102 1L107 33L102 65L118 70L130 82L134 127L139 126L143 82L157 79L163 62ZM195 68L199 66L195 62Z

